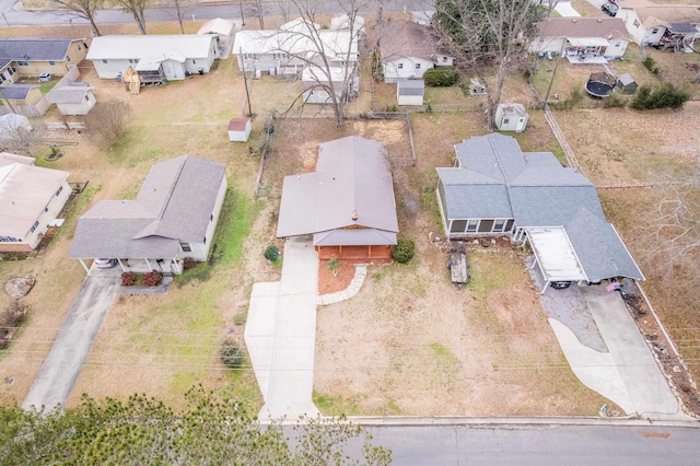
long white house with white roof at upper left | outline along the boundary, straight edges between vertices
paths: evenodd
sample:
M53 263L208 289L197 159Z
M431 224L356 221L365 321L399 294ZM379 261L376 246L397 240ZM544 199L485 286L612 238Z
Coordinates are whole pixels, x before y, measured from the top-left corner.
M212 34L139 35L95 37L88 53L101 79L115 79L139 63L151 69L160 63L168 81L187 74L208 73L219 54Z

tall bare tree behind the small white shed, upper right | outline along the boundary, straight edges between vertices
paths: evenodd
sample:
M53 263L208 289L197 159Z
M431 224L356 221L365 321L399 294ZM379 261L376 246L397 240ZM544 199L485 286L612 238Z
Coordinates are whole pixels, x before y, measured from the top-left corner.
M438 0L433 24L462 68L486 86L487 126L494 128L505 75L524 65L545 10L530 0ZM495 84L489 83L495 69Z

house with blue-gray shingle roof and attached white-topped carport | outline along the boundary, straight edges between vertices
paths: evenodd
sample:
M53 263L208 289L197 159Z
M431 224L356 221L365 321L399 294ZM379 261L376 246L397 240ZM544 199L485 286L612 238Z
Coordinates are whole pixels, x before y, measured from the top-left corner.
M455 145L457 166L436 168L450 238L510 234L529 242L546 281L643 280L593 184L550 152L522 152L492 133Z

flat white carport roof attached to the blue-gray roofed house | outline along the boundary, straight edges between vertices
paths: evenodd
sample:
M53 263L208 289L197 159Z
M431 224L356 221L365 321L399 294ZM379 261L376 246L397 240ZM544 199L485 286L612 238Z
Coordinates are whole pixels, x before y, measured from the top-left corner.
M545 280L587 280L563 228L525 229L525 232Z

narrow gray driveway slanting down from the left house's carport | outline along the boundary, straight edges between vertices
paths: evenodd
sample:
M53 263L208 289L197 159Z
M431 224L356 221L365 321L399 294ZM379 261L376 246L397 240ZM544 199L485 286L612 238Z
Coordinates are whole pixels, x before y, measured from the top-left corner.
M93 270L70 308L22 408L63 405L120 286L121 270Z

